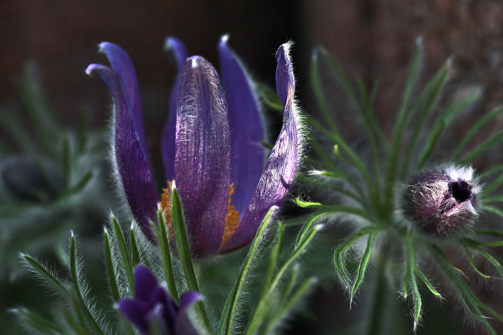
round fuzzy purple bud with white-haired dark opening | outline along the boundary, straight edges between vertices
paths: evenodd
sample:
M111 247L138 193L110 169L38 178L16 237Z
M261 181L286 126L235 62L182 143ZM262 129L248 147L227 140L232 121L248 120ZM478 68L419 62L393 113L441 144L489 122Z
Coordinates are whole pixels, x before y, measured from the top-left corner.
M425 233L445 237L474 224L479 192L472 168L444 167L413 177L401 207L404 216Z

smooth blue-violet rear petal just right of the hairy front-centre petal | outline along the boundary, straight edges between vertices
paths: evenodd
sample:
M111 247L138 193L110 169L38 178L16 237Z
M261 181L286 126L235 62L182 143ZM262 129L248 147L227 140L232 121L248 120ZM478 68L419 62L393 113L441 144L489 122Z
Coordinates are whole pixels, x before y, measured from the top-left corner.
M251 80L236 55L227 46L228 36L218 43L220 75L229 113L230 182L232 203L242 215L264 170L264 131Z

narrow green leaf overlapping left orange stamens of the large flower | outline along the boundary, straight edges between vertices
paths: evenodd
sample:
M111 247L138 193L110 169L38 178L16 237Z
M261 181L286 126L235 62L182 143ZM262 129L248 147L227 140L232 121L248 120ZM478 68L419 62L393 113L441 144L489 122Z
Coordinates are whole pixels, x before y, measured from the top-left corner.
M187 229L185 227L184 212L182 209L182 202L180 201L180 196L178 195L177 189L173 187L172 189L172 207L171 207L171 217L173 220L173 231L175 233L175 239L177 240L178 253L180 256L180 262L182 263L182 268L185 274L185 280L187 281L187 287L190 291L198 291L199 285L197 283L196 272L194 271L194 265L192 264L192 256L190 252L189 239L187 237ZM213 334L213 328L211 327L211 322L208 319L208 314L206 314L206 309L204 308L204 303L202 301L197 301L194 304L199 321L201 321L202 326L210 334Z

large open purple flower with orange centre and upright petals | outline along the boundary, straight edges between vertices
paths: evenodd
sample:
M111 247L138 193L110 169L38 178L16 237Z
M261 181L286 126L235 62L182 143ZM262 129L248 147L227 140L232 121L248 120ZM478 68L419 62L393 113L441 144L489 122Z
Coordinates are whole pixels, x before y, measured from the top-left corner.
M88 74L97 72L112 92L116 167L134 218L152 237L149 221L157 221L160 205L171 231L173 180L194 256L230 252L253 240L269 208L281 206L285 200L301 155L290 45L282 45L276 54L276 90L285 109L283 127L264 168L264 133L253 83L226 41L224 36L218 44L222 88L206 59L187 58L180 40L166 39L180 73L161 138L169 187L160 202L152 180L131 59L119 46L104 42L100 47L112 68L91 64L86 70Z

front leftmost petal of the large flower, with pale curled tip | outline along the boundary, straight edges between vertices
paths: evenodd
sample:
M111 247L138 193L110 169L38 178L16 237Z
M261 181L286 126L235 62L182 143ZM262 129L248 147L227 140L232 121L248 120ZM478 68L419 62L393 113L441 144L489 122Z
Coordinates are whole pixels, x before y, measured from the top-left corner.
M128 95L119 75L101 64L91 64L86 73L97 72L110 88L114 100L114 156L133 216L143 231L153 237L149 220L157 221L157 193L134 127Z

